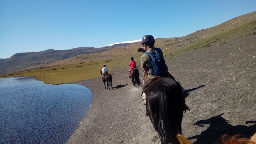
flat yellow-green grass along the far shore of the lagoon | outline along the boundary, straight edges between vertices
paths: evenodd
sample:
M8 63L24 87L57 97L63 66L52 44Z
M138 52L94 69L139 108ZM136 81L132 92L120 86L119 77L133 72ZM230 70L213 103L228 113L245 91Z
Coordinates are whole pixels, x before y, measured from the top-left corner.
M127 58L127 57L125 57ZM135 57L138 60L138 56ZM0 77L11 77L11 76L34 76L36 80L41 80L46 84L64 84L70 82L76 82L80 80L88 80L91 78L100 78L100 70L103 68L103 64L109 69L109 73L113 75L113 69L127 69L129 70L129 61L124 57L117 57L112 60L97 60L92 62L84 62L82 64L69 64L63 66L54 66L48 68L40 68L36 70L20 72L18 75L5 74ZM44 79L42 78L44 76Z

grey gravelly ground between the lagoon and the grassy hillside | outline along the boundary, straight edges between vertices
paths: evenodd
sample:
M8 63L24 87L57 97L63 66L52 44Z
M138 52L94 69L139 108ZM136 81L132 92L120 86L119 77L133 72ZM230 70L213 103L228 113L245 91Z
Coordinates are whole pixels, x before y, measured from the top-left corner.
M169 72L185 89L191 110L183 114L182 132L192 143L214 143L225 133L250 137L256 132L255 37L229 39L220 47L217 41L166 59ZM112 73L110 91L100 78L75 82L88 87L93 99L67 144L160 143L145 117L141 89L133 88L128 78L128 67Z

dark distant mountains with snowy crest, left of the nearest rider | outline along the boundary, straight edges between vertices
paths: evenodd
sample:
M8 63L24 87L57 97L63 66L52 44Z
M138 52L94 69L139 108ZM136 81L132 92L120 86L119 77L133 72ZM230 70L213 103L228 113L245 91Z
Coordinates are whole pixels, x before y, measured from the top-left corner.
M68 50L48 49L40 52L16 53L8 59L0 59L0 74L12 72L21 68L55 62L58 60L68 59L77 55L88 53L99 53L115 47L126 46L131 43L117 43L104 47L77 47Z

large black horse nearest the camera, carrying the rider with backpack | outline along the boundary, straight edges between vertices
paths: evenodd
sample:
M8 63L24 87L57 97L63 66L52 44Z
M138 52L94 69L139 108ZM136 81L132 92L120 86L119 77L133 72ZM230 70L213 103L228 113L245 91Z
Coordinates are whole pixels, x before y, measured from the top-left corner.
M186 107L181 85L171 78L159 78L146 90L146 112L161 144L179 144L183 110Z

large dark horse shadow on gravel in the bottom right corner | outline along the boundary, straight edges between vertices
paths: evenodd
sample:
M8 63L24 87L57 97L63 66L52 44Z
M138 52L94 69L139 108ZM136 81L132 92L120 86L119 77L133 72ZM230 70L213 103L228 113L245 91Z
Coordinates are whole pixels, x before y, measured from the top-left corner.
M199 135L194 135L192 137L188 137L187 139L197 139L193 144L209 144L214 142L220 142L220 137L223 134L228 135L243 135L244 137L250 138L255 133L256 130L256 121L247 121L245 124L253 123L251 126L237 125L232 126L228 124L228 120L225 120L221 116L224 113L208 118L207 120L199 120L194 125L200 127L207 127L207 130L201 132ZM209 125L209 126L207 126Z

